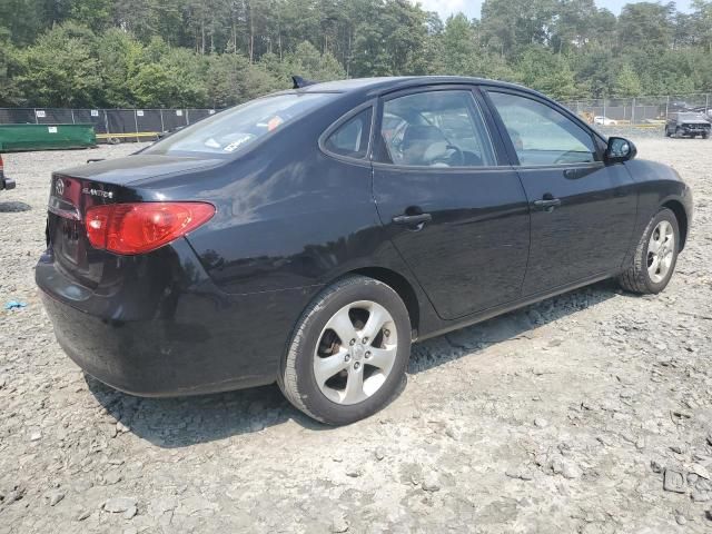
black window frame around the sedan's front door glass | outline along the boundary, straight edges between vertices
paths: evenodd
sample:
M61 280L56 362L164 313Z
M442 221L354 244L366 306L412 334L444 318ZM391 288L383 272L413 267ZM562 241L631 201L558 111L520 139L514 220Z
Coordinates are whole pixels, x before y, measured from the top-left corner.
M497 130L500 131L500 137L502 137L502 142L504 144L504 147L506 149L506 152L510 157L510 165L512 167L515 167L517 169L546 169L546 168L551 168L551 169L562 169L562 168L591 168L591 167L603 167L605 166L605 161L604 161L604 150L602 149L602 145L601 141L605 142L605 139L603 139L603 137L595 130L593 130L592 128L589 127L589 125L586 125L583 120L581 120L580 117L576 117L575 113L572 113L570 110L567 110L566 108L564 108L563 106L561 106L560 103L553 101L553 100L548 100L546 98L542 98L538 95L533 95L533 93L528 93L528 92L524 92L524 91L518 91L516 89L511 89L508 87L498 87L498 86L483 86L482 87L482 92L483 92L483 98L486 100L487 102L487 107L490 108L493 119L496 123ZM514 97L520 97L520 98L525 98L527 100L532 100L534 102L541 103L542 106L546 106L547 108L552 109L553 111L562 115L563 117L570 119L572 122L574 122L576 126L578 126L584 132L589 134L589 137L591 138L591 144L593 145L594 149L595 149L595 161L581 161L581 162L568 162L568 164L542 164L542 165L522 165L520 162L520 157L516 154L516 149L514 148L514 145L512 144L512 139L510 137L510 134L507 131L507 128L504 123L504 120L502 120L502 117L500 116L500 111L497 110L497 107L495 106L494 101L492 100L492 98L490 98L490 93L491 92L501 92L501 93L505 93L505 95L512 95Z

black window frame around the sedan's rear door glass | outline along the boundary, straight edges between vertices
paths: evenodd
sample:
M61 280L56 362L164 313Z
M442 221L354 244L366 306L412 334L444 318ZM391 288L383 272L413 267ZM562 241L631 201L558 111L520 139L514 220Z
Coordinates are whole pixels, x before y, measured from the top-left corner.
M393 92L387 92L382 95L378 99L378 107L376 110L377 120L372 129L372 138L373 138L373 154L372 154L372 165L374 168L380 169L389 169L389 170L398 170L398 171L407 171L407 170L417 170L418 172L423 171L432 171L432 172L476 172L481 170L492 171L492 170L511 170L508 161L502 160L502 151L500 149L498 139L495 139L493 131L493 123L491 123L491 112L487 106L487 102L483 101L481 98L479 91L477 90L477 85L475 83L443 83L437 86L416 86L409 87L407 89L396 90ZM383 146L383 141L380 138L376 138L376 136L380 135L380 127L383 122L384 107L387 101L395 100L396 98L408 97L411 95L417 95L422 92L438 92L438 91L464 91L468 92L472 98L472 103L474 108L479 112L483 127L485 132L487 134L487 139L490 140L490 145L492 146L492 154L495 159L495 165L487 166L457 166L457 167L432 167L429 165L398 165L398 164L388 164L385 161L378 161L374 156L379 154L382 150L385 150L386 147ZM377 140L376 140L377 139ZM506 155L506 152L504 154Z

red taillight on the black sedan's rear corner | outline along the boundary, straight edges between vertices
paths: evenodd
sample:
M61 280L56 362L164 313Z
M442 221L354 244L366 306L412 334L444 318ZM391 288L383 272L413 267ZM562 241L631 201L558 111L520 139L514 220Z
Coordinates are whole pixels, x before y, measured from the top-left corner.
M214 215L215 207L206 202L137 202L95 206L85 219L92 247L144 254L185 236Z

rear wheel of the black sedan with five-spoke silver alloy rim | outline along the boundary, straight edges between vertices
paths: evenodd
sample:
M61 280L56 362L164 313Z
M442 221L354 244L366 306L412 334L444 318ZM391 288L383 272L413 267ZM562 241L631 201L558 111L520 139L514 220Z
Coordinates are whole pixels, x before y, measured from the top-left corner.
M287 399L327 425L373 415L396 394L411 355L411 320L386 284L349 276L304 312L278 384Z

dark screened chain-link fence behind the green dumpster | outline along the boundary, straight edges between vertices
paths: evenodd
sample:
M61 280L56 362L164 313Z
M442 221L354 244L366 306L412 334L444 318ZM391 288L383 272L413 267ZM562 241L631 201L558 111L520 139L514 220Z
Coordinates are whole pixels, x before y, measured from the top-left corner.
M216 112L215 109L0 108L0 125L92 125L101 142L155 139Z

